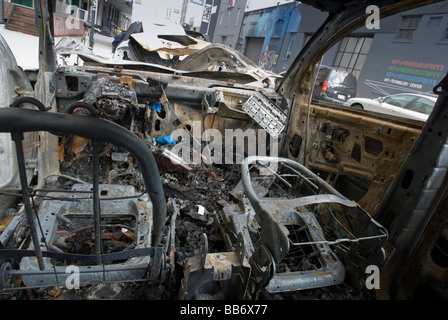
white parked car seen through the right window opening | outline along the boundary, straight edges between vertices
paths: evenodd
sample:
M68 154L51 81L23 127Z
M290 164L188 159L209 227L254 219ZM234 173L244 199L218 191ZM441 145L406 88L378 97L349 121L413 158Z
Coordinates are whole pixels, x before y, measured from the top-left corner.
M399 93L376 99L352 98L344 104L347 107L360 108L388 115L426 121L437 98L434 96Z

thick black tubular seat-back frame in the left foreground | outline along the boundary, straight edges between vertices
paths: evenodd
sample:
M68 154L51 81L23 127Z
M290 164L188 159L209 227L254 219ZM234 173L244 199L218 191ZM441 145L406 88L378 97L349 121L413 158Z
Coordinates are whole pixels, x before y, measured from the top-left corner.
M39 110L30 110L20 108L23 104L31 104L39 108ZM44 258L52 258L55 260L80 261L84 263L93 263L101 265L105 262L118 260L126 260L132 257L148 257L151 256L150 263L147 266L149 278L157 281L163 268L164 249L162 244L163 227L167 214L167 205L165 195L160 181L159 170L155 159L146 144L129 130L104 119L99 118L97 111L89 104L77 102L69 107L68 113L72 113L77 108L88 109L90 116L76 114L62 114L47 112L46 108L40 101L31 97L22 97L16 99L10 108L0 110L0 132L11 133L11 138L16 145L18 171L21 183L21 193L25 208L26 220L30 228L32 245L27 249L7 249L5 244L1 244L0 258L8 261L13 258L36 257L37 265L40 269L36 271L35 276L45 277L48 274L48 265L46 266ZM93 184L91 188L93 200L93 220L95 233L95 255L88 254L72 254L63 252L54 252L51 250L42 250L42 239L40 235L44 235L42 230L39 233L38 227L42 224L39 221L39 215L33 208L32 190L28 186L26 176L25 157L23 153L23 134L25 132L41 132L47 131L57 135L77 135L86 139L90 139L93 149ZM153 234L151 241L154 246L145 246L135 249L128 249L118 253L102 253L101 248L101 208L100 208L100 185L99 185L99 142L112 143L128 150L138 161L142 176L145 182L146 192L152 203L152 219L148 219L153 223ZM47 268L46 268L47 267ZM132 267L132 266L131 266ZM47 270L46 270L47 269ZM122 271L123 269L121 269ZM19 274L20 271L14 271L9 262L3 263L2 284L7 285L8 277L12 274ZM50 270L53 271L53 270ZM133 273L130 273L131 275ZM46 278L47 279L47 278ZM57 279L57 275L56 275ZM126 279L119 279L120 281ZM127 279L138 280L138 279ZM57 284L57 283L56 283ZM45 283L42 283L45 285ZM55 285L51 283L50 285Z

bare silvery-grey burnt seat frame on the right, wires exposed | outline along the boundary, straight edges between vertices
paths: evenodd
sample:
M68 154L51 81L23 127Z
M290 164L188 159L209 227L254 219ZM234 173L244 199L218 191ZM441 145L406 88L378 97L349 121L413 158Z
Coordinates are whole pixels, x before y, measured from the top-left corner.
M292 199L261 197L254 189L250 167L261 164L259 166L263 168L267 163L269 166L272 164L286 166L310 187L311 195ZM281 167L278 171L280 170ZM342 283L345 278L345 266L331 248L338 243L351 243L349 258L344 259L344 263L350 264L350 267L355 264L363 269L369 264L379 265L384 262L383 245L388 239L387 230L356 202L348 200L300 163L287 158L252 156L244 160L241 173L245 194L249 200L247 205L252 206L255 219L260 226L258 245L251 245L253 249L246 252L252 253L249 257L252 270L255 274L259 270L258 276L266 279L268 292L303 290ZM281 174L275 173L275 175L282 179ZM343 228L350 234L349 237L345 237L343 232L336 232L337 239L332 240L324 235L323 225L320 222L322 219L317 219L321 215L319 210L310 209L313 205L323 205L333 215L329 204L337 204L344 208L343 214L348 223ZM333 218L340 224L337 218L334 216ZM239 227L239 223L234 225L237 232L246 233L244 239L251 242L245 229ZM288 230L287 226L305 229L309 241L293 241L290 236L293 236L294 232ZM312 246L313 251L318 254L321 266L308 271L276 272L276 264L282 262L293 248L301 246Z

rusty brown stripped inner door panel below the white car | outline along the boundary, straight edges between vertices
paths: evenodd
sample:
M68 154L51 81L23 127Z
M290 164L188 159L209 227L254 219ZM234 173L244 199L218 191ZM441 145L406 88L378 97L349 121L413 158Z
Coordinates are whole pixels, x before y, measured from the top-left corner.
M366 211L375 212L423 123L314 104L296 110L285 140L288 157L339 177L354 175L367 179L368 190L358 202ZM295 136L302 139L297 156L289 147Z

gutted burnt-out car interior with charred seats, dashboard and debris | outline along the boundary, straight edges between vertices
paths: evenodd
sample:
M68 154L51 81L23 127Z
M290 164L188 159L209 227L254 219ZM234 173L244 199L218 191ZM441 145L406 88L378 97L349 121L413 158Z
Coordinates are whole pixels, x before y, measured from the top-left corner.
M215 44L177 69L85 52L58 65L35 0L36 79L0 46L3 296L59 287L70 299L76 267L78 294L120 283L147 299L446 298L448 78L426 123L311 103L320 56L367 5L386 17L436 1L303 2L328 18L275 81ZM239 149L244 135L230 152L217 141L254 129L264 154Z

